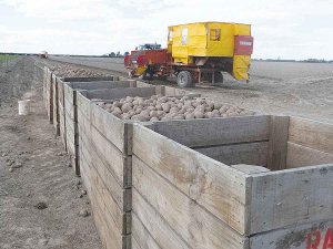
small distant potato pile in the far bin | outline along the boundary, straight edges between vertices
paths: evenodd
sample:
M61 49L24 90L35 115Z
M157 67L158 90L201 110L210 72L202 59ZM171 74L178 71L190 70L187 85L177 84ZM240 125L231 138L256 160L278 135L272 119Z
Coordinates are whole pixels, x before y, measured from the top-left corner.
M100 77L100 76L109 76L103 73L97 73L89 69L80 69L71 65L62 65L56 69L53 72L59 77Z

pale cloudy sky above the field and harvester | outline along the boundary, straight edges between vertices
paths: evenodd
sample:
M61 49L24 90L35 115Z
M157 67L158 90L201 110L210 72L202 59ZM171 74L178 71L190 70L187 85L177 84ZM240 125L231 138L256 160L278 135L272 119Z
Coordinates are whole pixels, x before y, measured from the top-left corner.
M252 24L255 59L333 60L333 0L0 0L0 52L123 53L205 21Z

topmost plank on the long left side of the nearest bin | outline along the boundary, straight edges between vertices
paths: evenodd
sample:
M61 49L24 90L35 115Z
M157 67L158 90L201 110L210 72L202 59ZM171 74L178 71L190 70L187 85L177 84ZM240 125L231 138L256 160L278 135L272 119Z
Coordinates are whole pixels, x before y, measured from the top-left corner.
M139 124L133 127L133 154L218 218L246 234L248 175Z

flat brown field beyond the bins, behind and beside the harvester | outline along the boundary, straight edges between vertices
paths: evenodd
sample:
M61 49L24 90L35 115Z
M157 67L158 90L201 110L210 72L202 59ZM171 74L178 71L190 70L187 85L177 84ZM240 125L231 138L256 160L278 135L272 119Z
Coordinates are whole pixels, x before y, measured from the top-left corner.
M99 68L127 76L117 58L52 58L58 61ZM105 72L105 71L104 71ZM333 123L333 64L252 62L251 82L236 82L224 74L218 87L193 92L265 114L294 115ZM152 84L175 84L153 80Z

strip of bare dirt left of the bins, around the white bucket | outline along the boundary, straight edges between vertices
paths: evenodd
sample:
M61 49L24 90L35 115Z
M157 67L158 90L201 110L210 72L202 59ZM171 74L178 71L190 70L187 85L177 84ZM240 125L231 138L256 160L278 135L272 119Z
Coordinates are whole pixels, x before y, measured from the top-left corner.
M41 79L32 58L0 66L0 248L102 248L91 216L79 215L89 199L47 120ZM20 98L31 115L18 115Z

